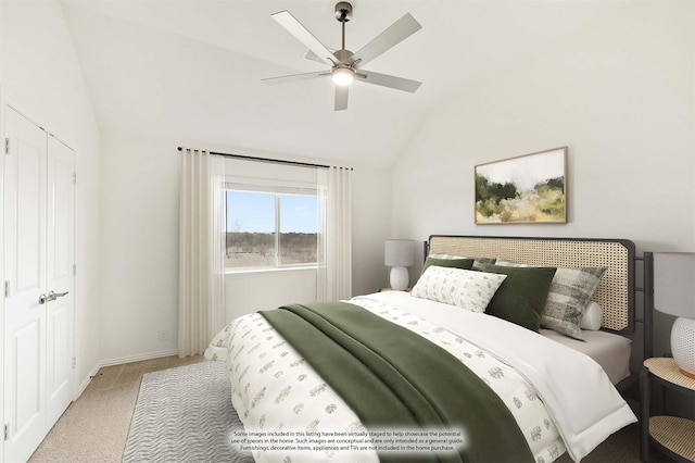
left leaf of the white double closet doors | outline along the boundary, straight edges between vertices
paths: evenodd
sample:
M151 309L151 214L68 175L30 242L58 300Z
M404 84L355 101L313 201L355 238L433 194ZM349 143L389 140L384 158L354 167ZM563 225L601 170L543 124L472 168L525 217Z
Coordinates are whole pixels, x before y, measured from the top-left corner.
M4 459L25 461L46 435L46 133L10 108L4 157Z

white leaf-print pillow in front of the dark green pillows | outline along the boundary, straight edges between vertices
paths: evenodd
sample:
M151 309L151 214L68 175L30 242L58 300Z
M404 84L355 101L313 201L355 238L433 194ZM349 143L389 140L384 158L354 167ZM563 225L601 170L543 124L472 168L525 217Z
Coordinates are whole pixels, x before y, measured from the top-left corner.
M417 280L410 296L484 312L506 275L430 265Z

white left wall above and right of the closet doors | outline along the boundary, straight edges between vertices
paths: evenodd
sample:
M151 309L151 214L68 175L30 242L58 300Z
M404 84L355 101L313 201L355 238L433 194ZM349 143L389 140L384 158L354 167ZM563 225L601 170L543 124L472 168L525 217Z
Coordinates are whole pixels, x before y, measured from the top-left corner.
M76 386L99 364L99 127L58 2L0 2L3 97L76 152Z

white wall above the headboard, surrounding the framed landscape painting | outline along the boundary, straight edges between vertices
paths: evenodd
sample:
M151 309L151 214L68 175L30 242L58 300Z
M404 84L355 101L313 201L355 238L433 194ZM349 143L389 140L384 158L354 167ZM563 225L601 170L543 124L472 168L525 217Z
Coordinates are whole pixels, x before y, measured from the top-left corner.
M619 5L432 114L394 164L394 234L627 238L639 253L695 251L695 3ZM565 145L567 224L473 224L476 164ZM670 324L658 321L661 354Z

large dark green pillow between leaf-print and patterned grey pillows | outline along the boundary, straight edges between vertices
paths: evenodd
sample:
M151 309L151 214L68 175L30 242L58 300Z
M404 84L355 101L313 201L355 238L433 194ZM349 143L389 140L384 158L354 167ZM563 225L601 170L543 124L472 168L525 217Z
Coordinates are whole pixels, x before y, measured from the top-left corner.
M555 267L507 267L483 264L483 272L507 275L485 313L539 331Z

